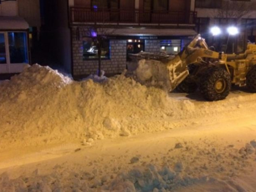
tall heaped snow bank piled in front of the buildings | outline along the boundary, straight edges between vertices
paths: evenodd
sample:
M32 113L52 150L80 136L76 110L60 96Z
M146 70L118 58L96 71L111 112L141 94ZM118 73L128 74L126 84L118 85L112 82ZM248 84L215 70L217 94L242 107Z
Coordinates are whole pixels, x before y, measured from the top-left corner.
M243 101L239 97L218 105L204 102L196 108L189 100L170 98L165 91L124 75L104 83L76 82L39 65L1 83L0 93L2 148L67 139L87 143L88 139L172 129L199 123L199 117L243 109L241 104L230 105Z

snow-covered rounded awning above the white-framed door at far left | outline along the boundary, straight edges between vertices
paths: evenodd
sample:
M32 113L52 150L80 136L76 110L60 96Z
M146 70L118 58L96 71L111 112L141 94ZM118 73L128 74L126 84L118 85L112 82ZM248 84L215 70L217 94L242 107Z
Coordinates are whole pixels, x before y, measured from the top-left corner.
M29 24L22 17L0 16L0 30L25 30Z

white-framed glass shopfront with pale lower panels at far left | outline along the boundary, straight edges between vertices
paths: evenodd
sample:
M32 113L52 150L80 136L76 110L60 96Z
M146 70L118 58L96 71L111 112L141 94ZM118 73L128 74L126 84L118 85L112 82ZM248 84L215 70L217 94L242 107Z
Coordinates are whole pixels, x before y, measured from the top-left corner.
M0 73L20 73L29 64L25 31L0 32Z

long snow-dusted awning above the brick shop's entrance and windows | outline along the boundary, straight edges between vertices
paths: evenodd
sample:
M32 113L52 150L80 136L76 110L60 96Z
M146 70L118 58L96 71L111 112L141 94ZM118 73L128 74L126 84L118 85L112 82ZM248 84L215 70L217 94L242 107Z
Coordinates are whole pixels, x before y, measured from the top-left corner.
M148 28L120 28L106 29L108 35L131 36L193 36L197 32L193 29L148 29Z

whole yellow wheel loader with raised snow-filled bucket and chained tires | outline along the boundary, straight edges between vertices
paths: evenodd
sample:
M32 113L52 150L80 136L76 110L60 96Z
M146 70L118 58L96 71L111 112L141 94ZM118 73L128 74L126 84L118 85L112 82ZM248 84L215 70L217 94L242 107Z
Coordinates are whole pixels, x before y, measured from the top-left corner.
M169 91L177 88L191 93L199 88L202 96L209 101L225 99L231 84L247 86L250 92L256 92L256 45L253 44L248 44L241 54L225 54L216 52L212 47L208 48L205 40L197 35L175 57L143 59L139 61L138 69L143 68L141 63L147 63L143 66L151 68L151 73L148 73L151 75L144 78L146 70L140 70L140 73L137 70L138 78L142 76L142 80L152 81L157 75L166 77L164 79ZM150 65L157 67L148 67ZM167 69L166 72L159 66Z

